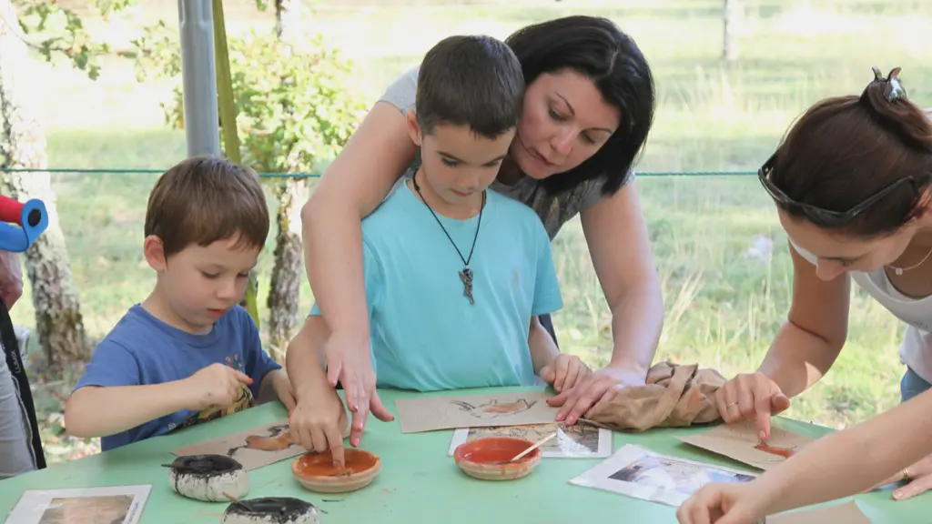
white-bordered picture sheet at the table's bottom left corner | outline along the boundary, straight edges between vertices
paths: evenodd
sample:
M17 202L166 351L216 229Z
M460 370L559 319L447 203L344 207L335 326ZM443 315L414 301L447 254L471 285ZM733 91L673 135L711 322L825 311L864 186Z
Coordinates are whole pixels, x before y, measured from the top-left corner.
M72 524L118 522L137 524L149 498L149 484L79 488L75 490L28 490L7 517L9 524Z

